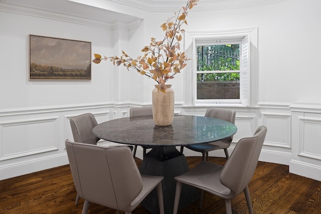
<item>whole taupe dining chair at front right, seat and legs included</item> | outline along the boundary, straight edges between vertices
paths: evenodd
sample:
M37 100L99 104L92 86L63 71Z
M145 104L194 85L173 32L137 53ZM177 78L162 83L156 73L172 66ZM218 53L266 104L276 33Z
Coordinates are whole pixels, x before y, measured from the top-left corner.
M177 213L182 183L202 190L200 208L202 207L204 190L224 198L226 213L228 214L232 214L231 200L244 191L249 212L253 213L248 183L253 177L266 132L267 128L260 126L254 136L240 139L224 166L209 161L201 161L190 171L176 176L177 185L173 213Z

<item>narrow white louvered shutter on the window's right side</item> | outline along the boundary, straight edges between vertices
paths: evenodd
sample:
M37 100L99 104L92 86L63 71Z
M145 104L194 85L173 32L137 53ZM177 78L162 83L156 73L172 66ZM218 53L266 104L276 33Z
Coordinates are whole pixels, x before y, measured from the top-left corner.
M241 101L245 106L250 106L250 53L249 36L245 36L242 39L242 60L240 60Z

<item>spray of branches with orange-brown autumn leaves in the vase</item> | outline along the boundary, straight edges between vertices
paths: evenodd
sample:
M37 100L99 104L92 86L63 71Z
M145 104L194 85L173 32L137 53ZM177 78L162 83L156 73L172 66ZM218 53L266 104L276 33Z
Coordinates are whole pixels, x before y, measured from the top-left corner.
M0 0L1 1L1 0ZM186 17L188 11L192 9L199 0L187 0L187 4L183 7L183 12L174 12L174 16L161 25L165 32L165 37L162 40L150 38L150 43L144 46L141 52L142 56L136 59L128 56L124 51L122 55L117 57L104 57L100 54L94 54L95 64L99 64L103 59L107 59L113 65L123 65L129 69L133 69L141 75L153 79L160 85L160 91L166 92L165 84L168 80L173 79L177 73L186 67L187 57L184 52L181 52L180 42L183 40L185 30L183 25L187 25ZM174 74L173 74L174 73Z

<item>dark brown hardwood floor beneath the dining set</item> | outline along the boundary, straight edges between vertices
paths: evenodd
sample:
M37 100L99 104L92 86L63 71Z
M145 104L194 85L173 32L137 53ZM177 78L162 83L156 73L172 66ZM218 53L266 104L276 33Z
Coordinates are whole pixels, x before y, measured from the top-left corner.
M187 157L190 168L201 157ZM210 157L224 164L225 158ZM139 166L141 160L136 159ZM321 213L321 181L291 174L288 166L258 162L249 184L254 213ZM75 206L76 190L69 165L0 181L0 213L81 213L83 199ZM205 192L203 208L199 201L179 213L225 213L224 200ZM244 194L232 200L233 213L248 213ZM98 204L90 204L89 213L117 213ZM142 206L133 212L148 213Z

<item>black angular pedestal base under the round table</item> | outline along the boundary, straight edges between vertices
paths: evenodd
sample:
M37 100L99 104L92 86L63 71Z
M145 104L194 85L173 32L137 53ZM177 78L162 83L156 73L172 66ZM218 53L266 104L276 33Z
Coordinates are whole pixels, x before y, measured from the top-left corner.
M165 213L173 213L174 198L176 190L175 176L189 170L184 154L181 154L175 146L157 146L148 152L139 167L141 174L162 175L164 180L163 197ZM179 209L199 199L197 188L185 185L182 186ZM141 205L151 213L159 213L157 191L154 189L141 202Z

